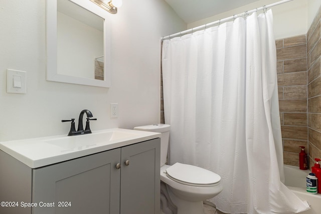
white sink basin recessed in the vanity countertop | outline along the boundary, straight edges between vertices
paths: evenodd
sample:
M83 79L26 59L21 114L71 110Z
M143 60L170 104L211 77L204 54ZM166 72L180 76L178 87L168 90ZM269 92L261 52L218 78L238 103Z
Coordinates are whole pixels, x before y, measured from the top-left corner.
M59 146L67 150L82 150L93 146L99 146L106 143L112 143L116 140L137 137L137 133L129 133L125 131L110 130L106 132L94 132L91 134L64 136L61 138L45 140L45 143Z

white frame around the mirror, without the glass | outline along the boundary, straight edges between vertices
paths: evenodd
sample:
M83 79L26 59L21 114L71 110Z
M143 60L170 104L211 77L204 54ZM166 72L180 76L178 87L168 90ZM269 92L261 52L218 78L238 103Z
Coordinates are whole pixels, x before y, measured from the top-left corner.
M88 86L109 88L111 86L110 24L108 13L91 1L69 0L80 7L96 14L104 20L104 80L73 77L57 73L57 0L47 0L46 39L47 39L47 80Z

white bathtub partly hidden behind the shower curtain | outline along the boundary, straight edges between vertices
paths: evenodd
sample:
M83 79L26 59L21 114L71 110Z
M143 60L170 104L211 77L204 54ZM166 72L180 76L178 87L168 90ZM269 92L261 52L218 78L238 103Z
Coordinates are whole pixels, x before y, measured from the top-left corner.
M305 178L309 172L309 170L300 170L297 166L284 165L285 185L310 205L311 209L300 213L319 214L321 213L321 194L306 192Z

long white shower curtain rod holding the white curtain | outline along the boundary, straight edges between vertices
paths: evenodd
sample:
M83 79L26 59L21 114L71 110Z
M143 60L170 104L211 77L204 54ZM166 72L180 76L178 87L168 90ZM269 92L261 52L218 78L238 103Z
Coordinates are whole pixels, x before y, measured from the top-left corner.
M241 14L238 14L238 15L233 15L231 17L224 18L224 19L221 19L219 21L211 22L211 23L208 23L208 24L205 24L205 25L201 25L201 26L198 26L198 27L195 27L195 28L191 28L191 29L188 29L188 30L176 33L176 34L172 34L172 35L163 37L162 40L172 39L174 37L182 36L184 34L188 34L188 33L191 33L191 32L193 33L195 31L198 31L198 30L201 30L201 29L204 29L204 28L207 28L207 27L211 27L211 26L216 25L216 24L224 23L226 21L229 21L229 20L232 20L232 19L236 19L238 17L248 16L248 14L251 14L253 12L256 12L256 11L259 11L259 10L266 10L267 8L272 8L274 6L281 5L283 3L287 3L287 2L291 2L291 1L293 1L293 0L283 0L283 1L280 1L280 2L276 2L276 3L270 4L270 5L263 6L261 8L253 9L251 11L246 11L244 13L241 13Z

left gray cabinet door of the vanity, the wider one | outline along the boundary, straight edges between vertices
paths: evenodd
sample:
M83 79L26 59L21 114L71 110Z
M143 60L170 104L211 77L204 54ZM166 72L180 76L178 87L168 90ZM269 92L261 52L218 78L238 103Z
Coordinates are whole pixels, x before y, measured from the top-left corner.
M117 163L120 148L34 169L33 213L119 213Z

